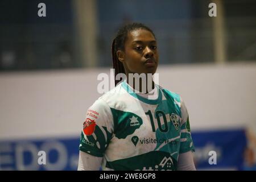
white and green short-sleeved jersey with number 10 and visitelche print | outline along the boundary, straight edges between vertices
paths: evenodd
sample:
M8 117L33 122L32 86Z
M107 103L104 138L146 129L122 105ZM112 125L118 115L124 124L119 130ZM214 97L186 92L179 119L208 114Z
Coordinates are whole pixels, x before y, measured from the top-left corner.
M86 113L80 150L103 157L103 170L176 170L179 154L195 151L179 94L155 87L155 99L123 81ZM146 97L145 97L146 96Z

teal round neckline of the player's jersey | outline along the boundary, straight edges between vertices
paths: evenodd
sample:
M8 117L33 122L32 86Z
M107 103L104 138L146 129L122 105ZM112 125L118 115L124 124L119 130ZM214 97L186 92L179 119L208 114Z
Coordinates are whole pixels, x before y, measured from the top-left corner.
M145 98L142 96L139 96L138 94L136 94L133 91L133 88L131 88L131 86L129 84L127 84L126 80L122 82L122 88L126 90L126 92L128 92L131 96L133 96L134 98L137 98L138 100L145 102L146 104L151 104L151 105L156 105L158 104L160 101L162 101L162 92L160 91L160 88L158 85L156 85L156 88L158 89L158 98L154 99L150 99L150 94L148 94L149 98ZM145 94L146 95L146 94ZM154 97L154 96L151 96Z

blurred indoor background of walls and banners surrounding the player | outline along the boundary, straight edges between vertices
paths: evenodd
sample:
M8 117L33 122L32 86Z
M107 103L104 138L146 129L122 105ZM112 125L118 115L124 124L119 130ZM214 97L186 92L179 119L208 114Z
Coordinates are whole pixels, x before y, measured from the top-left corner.
M254 0L1 0L0 170L77 169L97 76L110 75L112 40L129 22L156 35L159 84L185 101L197 169L256 170Z

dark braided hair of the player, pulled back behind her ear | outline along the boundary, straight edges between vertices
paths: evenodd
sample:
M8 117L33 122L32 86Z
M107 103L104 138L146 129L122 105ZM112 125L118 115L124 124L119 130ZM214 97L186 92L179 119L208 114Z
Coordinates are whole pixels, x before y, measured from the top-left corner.
M125 68L123 67L123 63L118 60L117 51L119 50L125 51L125 42L127 40L128 33L130 31L137 30L137 29L144 29L144 30L150 31L151 34L154 35L155 37L154 32L142 23L130 23L121 27L118 30L117 36L115 36L112 43L112 63L113 63L113 68L115 69L115 77L117 76L118 73L125 74ZM119 82L118 80L115 80L115 86L117 86L118 82Z

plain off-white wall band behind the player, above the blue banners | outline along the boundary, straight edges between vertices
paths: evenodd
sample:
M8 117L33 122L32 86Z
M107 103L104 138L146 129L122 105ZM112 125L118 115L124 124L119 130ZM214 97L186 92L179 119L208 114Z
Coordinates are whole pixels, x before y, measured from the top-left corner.
M110 69L0 73L0 139L79 137L103 72ZM161 86L183 97L192 130L255 127L256 64L168 65L158 73Z

